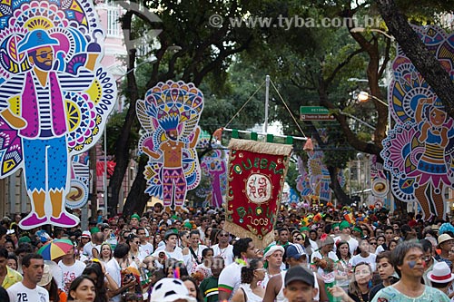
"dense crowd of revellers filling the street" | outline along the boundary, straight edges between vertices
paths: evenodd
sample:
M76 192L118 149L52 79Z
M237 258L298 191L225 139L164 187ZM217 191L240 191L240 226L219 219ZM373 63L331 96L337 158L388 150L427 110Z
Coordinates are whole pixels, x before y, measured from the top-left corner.
M454 227L386 209L286 209L274 241L224 229L222 209L160 204L89 227L0 226L1 302L454 301ZM58 258L40 248L70 242Z

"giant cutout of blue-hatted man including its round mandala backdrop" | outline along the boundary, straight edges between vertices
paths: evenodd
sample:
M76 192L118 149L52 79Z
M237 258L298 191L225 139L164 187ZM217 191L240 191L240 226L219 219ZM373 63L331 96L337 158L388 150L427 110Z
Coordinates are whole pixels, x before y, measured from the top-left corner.
M22 229L79 223L64 207L72 156L99 139L116 99L103 41L91 1L2 2L0 177L24 170Z

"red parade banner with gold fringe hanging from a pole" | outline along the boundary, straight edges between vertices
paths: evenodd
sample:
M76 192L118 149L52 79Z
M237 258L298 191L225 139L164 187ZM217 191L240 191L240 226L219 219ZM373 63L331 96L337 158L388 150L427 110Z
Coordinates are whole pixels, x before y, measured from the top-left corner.
M291 145L232 139L225 229L267 247L281 204Z

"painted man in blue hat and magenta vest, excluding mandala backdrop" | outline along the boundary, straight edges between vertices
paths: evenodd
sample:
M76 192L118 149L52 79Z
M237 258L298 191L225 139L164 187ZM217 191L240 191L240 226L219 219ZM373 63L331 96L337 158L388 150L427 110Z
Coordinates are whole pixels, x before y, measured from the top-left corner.
M96 45L92 47L93 52L89 54L82 50L86 56L80 62L81 69L74 71L78 75L74 77L74 74L54 69L54 48L59 49L59 45L59 40L46 29L38 27L29 30L17 44L17 51L18 55L26 56L30 68L9 79L11 83L23 83L22 93L14 95L12 90L12 93L2 93L0 97L0 102L5 103L16 97L20 106L18 111L8 107L0 114L12 128L19 130L18 136L23 141L25 187L32 210L19 222L21 229L47 223L69 228L80 221L64 208L71 176L71 158L67 151L66 136L70 129L66 121L66 98L62 87L84 92L91 86L101 47L92 43L89 46ZM68 55L64 54L63 48L59 54ZM72 57L68 55L65 59L69 61ZM46 206L49 201L50 204Z

